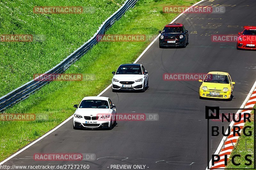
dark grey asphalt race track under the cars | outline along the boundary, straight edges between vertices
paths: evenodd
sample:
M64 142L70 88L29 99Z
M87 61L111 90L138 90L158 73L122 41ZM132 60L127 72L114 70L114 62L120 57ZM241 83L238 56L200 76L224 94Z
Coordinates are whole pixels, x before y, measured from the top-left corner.
M159 48L157 40L137 62L149 74L146 92L114 93L110 88L102 95L113 101L117 113L157 113L159 121L119 121L109 131L73 130L70 120L4 165L85 164L92 170L107 170L111 165L146 165L145 169L150 170L205 169L209 162L205 106L240 107L256 80L255 51L236 50L235 42L212 42L210 36L237 34L244 25L256 25L256 1L207 0L200 5L212 4L225 4L226 12L183 14L176 20L188 30L186 48ZM236 82L231 101L200 100L198 81L163 80L164 73L209 71L230 73ZM220 140L213 141L215 150ZM95 153L97 160L34 161L34 153Z

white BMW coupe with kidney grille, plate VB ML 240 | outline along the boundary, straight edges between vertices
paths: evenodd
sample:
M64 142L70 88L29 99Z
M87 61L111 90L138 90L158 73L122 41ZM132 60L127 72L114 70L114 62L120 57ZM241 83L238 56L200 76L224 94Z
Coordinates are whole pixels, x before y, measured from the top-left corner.
M116 125L116 106L108 97L84 97L74 105L73 129L112 129Z

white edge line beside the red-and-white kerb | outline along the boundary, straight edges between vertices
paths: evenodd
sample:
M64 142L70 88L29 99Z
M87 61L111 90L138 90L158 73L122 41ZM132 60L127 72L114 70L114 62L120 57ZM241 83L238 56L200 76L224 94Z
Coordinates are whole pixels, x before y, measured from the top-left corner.
M252 88L251 88L250 92L248 93L247 97L245 98L245 100L244 100L244 102L243 102L243 104L241 105L240 108L244 108L245 104L246 104L247 101L250 99L250 97L251 97L251 95L252 95L252 92L254 91L255 87L256 87L256 81L255 81L254 84L252 85ZM239 113L239 110L237 111L237 113ZM236 114L237 114L237 113L236 113ZM233 125L234 125L234 122L232 121L232 122L230 122L229 127L233 128ZM227 133L227 131L228 131L228 129L226 130L225 133ZM216 155L216 154L219 154L220 149L222 148L222 146L223 146L223 144L224 144L226 138L227 138L227 137L224 136L224 137L221 139L220 144L219 144L219 146L218 146L216 152L214 153L215 155ZM211 165L211 164L212 164L212 159L210 160L210 162L209 162L208 165ZM206 166L206 169L205 169L205 170L208 170L208 165ZM210 168L211 168L211 167L210 167ZM209 168L209 169L210 169L210 168Z

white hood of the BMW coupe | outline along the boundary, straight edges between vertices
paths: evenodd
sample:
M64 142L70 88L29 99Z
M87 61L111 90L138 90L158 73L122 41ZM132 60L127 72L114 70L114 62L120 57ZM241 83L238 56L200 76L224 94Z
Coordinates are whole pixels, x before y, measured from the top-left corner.
M77 108L75 114L81 116L97 116L102 114L111 113L111 109L98 109L98 108Z

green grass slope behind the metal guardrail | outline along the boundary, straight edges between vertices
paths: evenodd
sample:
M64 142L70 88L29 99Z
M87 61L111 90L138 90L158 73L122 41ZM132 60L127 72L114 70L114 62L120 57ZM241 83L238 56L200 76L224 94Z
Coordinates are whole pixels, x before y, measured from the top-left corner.
M125 0L0 1L0 34L33 34L40 41L0 41L0 96L60 63L88 41ZM82 6L80 14L36 14L35 6ZM35 37L34 37L35 39Z

